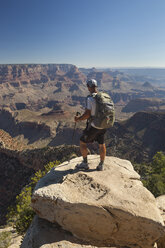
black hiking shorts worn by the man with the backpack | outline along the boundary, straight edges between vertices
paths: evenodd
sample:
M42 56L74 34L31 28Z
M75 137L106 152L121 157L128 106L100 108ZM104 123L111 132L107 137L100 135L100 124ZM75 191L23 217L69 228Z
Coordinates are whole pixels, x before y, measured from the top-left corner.
M93 143L97 141L99 145L104 144L104 134L106 133L106 129L97 129L94 127L86 127L83 131L83 135L80 137L80 140L84 143Z

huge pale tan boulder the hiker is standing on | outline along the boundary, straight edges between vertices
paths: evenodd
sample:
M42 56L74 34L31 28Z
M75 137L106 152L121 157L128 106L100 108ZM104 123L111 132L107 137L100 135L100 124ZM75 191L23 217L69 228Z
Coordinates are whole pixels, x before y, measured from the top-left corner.
M163 220L132 164L106 157L98 172L99 156L88 160L88 171L75 169L81 157L52 169L34 190L33 209L91 245L152 247L164 234Z

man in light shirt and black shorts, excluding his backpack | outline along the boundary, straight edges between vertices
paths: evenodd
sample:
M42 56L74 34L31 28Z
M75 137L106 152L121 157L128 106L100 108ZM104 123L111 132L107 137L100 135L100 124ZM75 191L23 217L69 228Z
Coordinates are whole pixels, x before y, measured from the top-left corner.
M80 151L83 156L83 161L81 164L78 164L76 168L85 170L89 169L87 160L87 143L97 141L99 143L100 163L96 169L98 171L102 171L106 155L106 146L104 143L104 134L106 132L106 129L96 127L92 122L92 117L95 115L96 112L96 100L93 96L97 94L97 81L95 79L88 80L87 87L90 92L90 95L87 97L87 105L85 112L80 117L75 116L75 122L87 120L87 126L83 132L83 135L80 138Z

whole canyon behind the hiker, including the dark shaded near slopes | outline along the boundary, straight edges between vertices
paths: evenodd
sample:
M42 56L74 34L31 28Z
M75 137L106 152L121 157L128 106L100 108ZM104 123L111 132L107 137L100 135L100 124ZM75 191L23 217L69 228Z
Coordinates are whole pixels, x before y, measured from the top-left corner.
M36 170L49 161L80 156L85 122L75 126L74 115L84 111L89 78L115 103L116 122L106 134L107 155L141 163L164 151L165 89L159 84L132 81L118 70L68 64L0 65L1 224L7 207ZM136 113L143 110L147 112ZM97 144L89 150L98 153Z

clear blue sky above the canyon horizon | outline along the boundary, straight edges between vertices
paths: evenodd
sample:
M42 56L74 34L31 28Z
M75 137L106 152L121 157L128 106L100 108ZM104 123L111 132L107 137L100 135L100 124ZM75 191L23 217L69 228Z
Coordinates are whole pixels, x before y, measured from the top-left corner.
M0 0L0 63L165 67L165 0Z

